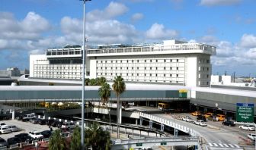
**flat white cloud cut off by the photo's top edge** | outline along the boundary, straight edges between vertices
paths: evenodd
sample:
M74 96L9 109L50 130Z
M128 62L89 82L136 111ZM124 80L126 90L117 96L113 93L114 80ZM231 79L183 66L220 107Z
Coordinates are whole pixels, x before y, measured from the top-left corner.
M216 5L235 5L242 0L201 0L200 5L216 6Z

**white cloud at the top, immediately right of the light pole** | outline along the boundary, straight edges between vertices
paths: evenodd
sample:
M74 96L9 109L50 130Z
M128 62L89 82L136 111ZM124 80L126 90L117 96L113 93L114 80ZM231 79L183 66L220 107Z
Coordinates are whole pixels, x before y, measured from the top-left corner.
M110 2L107 8L104 8L103 11L97 9L86 14L86 20L89 22L95 20L109 20L126 13L128 10L126 5Z

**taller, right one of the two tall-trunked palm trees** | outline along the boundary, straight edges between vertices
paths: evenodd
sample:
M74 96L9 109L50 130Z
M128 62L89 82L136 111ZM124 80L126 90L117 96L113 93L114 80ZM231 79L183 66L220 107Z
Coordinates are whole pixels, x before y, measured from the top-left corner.
M117 76L114 78L112 89L117 95L117 139L120 138L120 95L126 90L126 85L123 82L123 77Z

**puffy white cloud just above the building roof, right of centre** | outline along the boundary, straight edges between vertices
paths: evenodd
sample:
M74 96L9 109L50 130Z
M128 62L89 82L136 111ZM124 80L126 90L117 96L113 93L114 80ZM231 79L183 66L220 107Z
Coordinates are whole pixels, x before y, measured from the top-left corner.
M171 39L178 36L178 31L168 30L163 24L154 23L146 31L146 37L149 39Z

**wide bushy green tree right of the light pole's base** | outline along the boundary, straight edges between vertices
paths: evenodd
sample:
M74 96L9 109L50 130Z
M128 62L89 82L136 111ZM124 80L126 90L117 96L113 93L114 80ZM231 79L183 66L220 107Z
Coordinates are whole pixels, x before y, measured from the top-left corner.
M85 130L85 145L93 150L109 150L111 148L110 133L104 131L99 123L93 123Z

